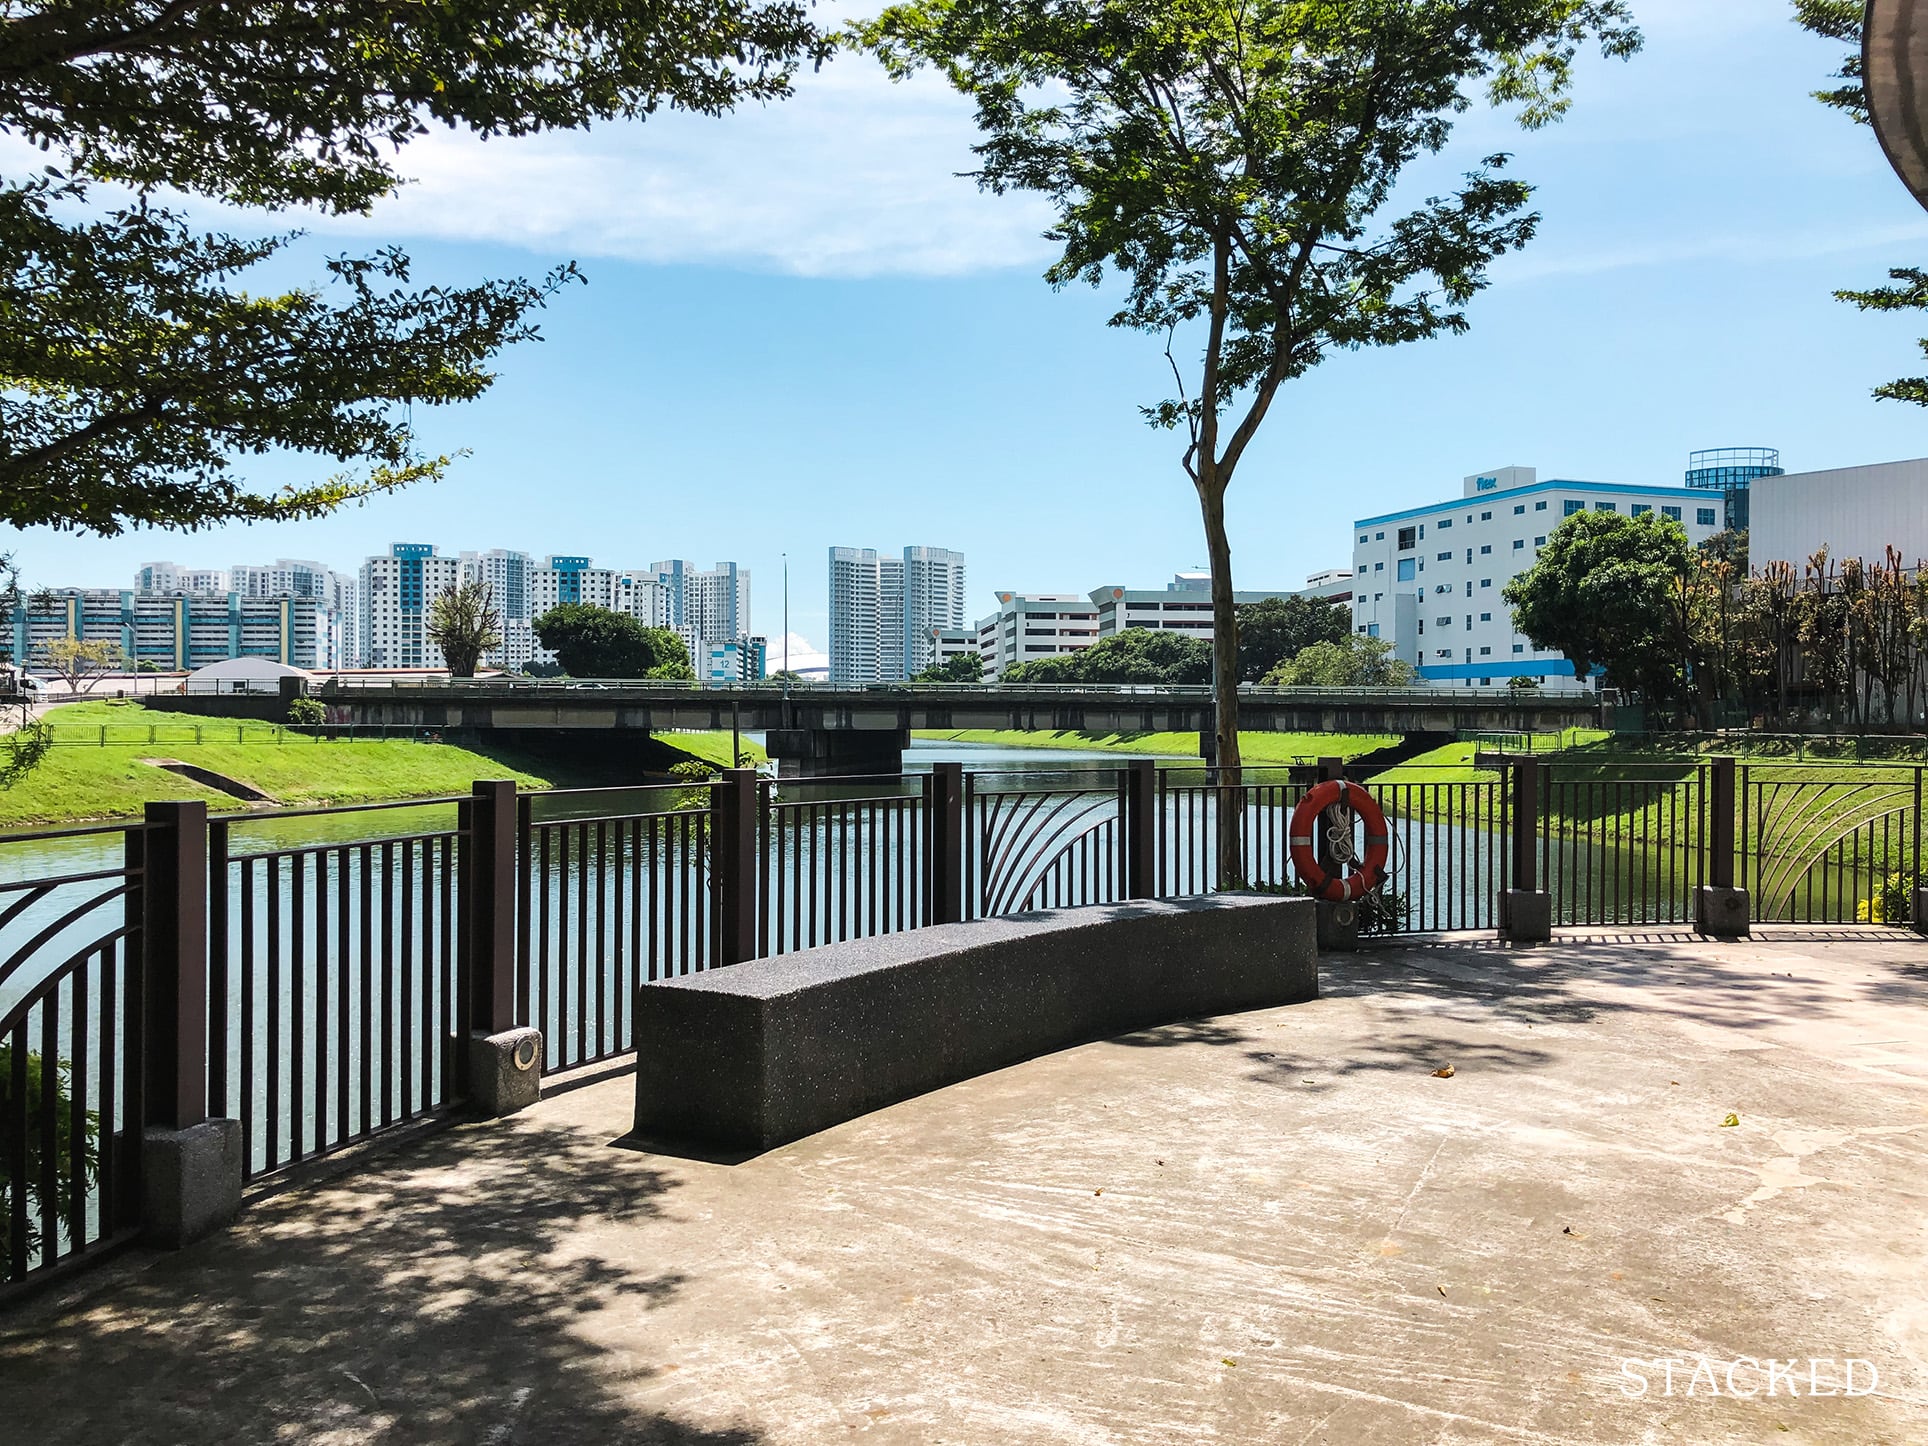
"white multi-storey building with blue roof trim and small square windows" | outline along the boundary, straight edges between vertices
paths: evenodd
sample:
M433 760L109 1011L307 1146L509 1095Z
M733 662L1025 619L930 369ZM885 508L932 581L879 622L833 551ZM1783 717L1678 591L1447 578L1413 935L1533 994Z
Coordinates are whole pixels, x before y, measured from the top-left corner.
M1691 488L1540 482L1531 467L1475 472L1454 501L1353 522L1353 632L1388 638L1431 683L1504 686L1529 677L1577 688L1566 657L1513 630L1500 592L1533 567L1546 534L1581 511L1662 513L1693 544L1724 526L1722 499Z

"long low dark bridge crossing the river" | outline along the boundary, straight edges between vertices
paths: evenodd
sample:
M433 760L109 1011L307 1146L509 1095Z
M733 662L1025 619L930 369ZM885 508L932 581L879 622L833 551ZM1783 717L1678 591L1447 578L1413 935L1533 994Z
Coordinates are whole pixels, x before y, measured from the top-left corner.
M787 777L897 773L912 729L1197 733L1211 758L1207 686L1153 684L704 684L596 679L328 679L330 723L386 723L534 738L586 731L746 729ZM1261 733L1554 733L1606 727L1612 704L1512 688L1240 688Z

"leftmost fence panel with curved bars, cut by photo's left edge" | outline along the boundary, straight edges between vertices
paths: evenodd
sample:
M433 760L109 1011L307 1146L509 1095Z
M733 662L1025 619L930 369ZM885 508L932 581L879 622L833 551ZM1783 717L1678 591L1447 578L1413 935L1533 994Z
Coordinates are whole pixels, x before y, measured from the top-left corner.
M0 1290L139 1230L143 835L0 839Z

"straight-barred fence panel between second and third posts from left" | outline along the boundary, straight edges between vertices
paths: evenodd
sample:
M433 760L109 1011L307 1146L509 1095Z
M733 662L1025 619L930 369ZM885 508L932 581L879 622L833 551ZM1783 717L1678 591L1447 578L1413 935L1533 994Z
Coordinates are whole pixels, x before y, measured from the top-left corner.
M634 993L713 958L715 785L522 794L517 1010L544 1068L634 1047Z

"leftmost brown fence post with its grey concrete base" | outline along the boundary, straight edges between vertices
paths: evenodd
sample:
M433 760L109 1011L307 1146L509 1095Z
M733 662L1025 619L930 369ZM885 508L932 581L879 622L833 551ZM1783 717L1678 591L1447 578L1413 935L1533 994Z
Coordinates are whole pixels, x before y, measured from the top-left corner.
M148 804L141 844L141 1230L179 1247L241 1209L241 1122L208 1118L208 806Z

